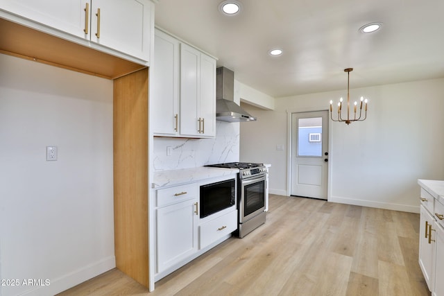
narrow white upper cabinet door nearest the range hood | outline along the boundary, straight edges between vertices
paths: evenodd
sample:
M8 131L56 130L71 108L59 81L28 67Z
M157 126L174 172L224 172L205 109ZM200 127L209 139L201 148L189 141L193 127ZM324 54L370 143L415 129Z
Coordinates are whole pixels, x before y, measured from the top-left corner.
M200 104L198 113L202 118L201 134L216 135L216 60L200 53Z

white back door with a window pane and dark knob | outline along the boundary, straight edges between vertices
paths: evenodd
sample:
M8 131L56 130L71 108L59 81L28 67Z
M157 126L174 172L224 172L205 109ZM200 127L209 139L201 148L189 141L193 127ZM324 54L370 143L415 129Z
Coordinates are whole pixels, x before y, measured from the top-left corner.
M291 114L291 195L327 200L328 111Z

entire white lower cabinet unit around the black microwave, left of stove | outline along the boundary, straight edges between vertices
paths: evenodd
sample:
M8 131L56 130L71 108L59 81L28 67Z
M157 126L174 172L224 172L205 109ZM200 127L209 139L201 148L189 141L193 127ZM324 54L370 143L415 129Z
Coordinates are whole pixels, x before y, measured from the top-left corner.
M155 191L155 236L150 238L155 241L154 281L230 238L237 229L236 204L200 218L200 185L232 177L235 175Z

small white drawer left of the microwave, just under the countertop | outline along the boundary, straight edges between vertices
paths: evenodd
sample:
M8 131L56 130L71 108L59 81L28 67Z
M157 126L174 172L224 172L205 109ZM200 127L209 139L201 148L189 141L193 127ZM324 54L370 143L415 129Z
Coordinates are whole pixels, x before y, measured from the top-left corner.
M182 202L196 197L196 183L158 189L156 193L156 205L157 207L163 207L168 204L175 204L176 202Z

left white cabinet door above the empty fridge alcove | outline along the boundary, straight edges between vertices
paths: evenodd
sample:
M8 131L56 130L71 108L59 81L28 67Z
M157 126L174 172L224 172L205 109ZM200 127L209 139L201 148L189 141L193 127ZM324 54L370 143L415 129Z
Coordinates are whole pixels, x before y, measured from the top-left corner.
M89 34L85 34L84 31L87 24L85 22L87 5L91 7L91 0L0 0L2 10L89 39ZM90 11L87 11L87 15L90 16Z

